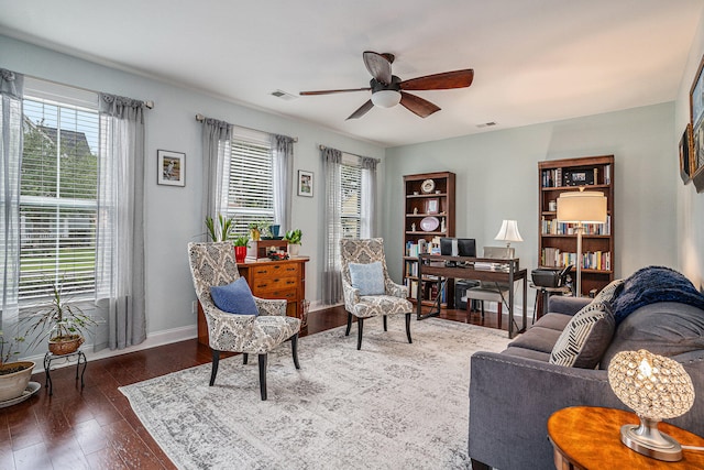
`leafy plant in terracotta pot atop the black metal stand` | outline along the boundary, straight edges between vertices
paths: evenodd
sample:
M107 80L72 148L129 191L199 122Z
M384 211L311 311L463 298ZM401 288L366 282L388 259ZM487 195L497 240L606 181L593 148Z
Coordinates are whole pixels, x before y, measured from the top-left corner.
M55 356L76 352L85 341L84 331L97 323L63 296L62 282L52 284L51 296L48 306L28 317L25 336L34 338L30 348L48 339L48 350Z

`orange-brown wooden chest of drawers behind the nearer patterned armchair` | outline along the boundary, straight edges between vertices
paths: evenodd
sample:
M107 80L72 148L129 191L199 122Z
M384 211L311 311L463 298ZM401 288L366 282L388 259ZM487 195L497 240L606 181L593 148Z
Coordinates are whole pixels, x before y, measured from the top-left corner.
M300 256L285 261L260 261L238 264L240 275L246 280L252 294L260 298L288 300L286 315L302 319L306 298L306 263ZM198 342L208 346L208 325L198 305Z

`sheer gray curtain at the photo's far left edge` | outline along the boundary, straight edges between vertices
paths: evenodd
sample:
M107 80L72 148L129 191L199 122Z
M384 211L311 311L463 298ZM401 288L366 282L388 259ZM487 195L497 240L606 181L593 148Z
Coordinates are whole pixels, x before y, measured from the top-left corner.
M23 75L0 68L0 330L8 337L19 313L23 88Z

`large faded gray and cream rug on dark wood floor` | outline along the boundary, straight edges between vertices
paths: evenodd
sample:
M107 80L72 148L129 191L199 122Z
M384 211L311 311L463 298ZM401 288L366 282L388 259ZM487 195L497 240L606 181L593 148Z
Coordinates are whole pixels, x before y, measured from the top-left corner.
M120 387L180 469L458 469L466 455L470 356L501 351L505 331L430 318L364 321L284 343L260 400L256 358L220 361Z

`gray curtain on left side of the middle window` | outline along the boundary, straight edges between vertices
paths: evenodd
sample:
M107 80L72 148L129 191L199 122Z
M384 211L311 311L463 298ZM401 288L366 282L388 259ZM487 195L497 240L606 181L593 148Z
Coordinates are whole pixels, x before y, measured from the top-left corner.
M217 119L202 121L202 220L210 216L224 216L228 205L228 182L230 181L230 140L232 124Z

